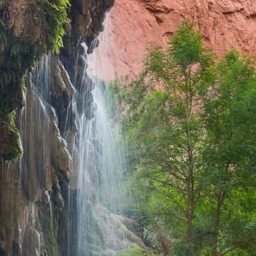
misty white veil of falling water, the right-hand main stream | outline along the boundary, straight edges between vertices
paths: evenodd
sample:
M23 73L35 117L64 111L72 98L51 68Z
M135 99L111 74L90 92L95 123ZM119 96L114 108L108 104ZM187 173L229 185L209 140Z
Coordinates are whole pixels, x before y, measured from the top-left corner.
M87 61L86 54L83 61ZM81 83L76 86L76 97L72 103L77 137L72 157L70 255L77 256L100 253L102 234L93 216L93 208L101 204L118 212L123 170L115 125L108 113L111 108L108 106L110 102L106 100L106 84L86 72L86 63L83 67Z

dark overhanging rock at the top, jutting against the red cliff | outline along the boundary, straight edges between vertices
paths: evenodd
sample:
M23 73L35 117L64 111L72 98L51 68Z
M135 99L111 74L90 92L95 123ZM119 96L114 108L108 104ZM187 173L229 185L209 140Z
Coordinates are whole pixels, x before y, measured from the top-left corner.
M72 19L71 28L64 36L65 47L61 49L61 61L70 74L71 81L76 74L77 52L81 56L81 44L84 42L91 53L95 47L99 46L98 36L104 27L102 25L106 13L109 12L115 0L72 0L70 17Z

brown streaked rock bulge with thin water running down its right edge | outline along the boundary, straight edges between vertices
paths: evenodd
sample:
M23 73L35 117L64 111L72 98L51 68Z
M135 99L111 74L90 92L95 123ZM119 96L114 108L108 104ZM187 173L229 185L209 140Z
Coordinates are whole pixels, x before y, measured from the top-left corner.
M31 202L38 199L42 190L51 191L52 168L63 172L63 179L67 180L71 171L70 154L61 138L56 114L36 94L35 86L27 81L27 106L20 116L24 145L24 156L20 160L21 180Z

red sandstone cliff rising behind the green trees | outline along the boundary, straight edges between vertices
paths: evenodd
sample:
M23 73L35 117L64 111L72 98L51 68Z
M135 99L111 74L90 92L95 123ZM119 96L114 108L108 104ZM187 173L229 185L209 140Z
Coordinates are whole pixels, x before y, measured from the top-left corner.
M136 76L147 42L166 43L182 19L194 20L205 44L218 54L230 45L256 51L255 0L116 0L99 48L105 59L104 67L98 67L103 78L113 78L114 72Z

